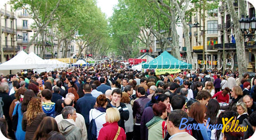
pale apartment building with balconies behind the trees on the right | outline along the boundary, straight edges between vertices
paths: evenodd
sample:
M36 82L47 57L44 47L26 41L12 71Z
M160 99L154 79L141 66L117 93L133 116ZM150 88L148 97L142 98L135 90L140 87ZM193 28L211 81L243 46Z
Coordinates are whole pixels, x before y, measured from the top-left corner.
M238 2L234 1L233 6L238 11ZM202 9L202 8L201 8ZM255 16L255 9L249 3L246 2L246 13L251 19L253 15ZM201 15L201 16L200 16ZM205 41L203 42L203 10L197 11L195 16L191 17L191 23L189 24L189 34L190 34L190 43L191 50L193 50L194 65L198 65L199 68L203 67L200 64L208 63L208 61L223 61L223 38L225 43L225 58L230 60L225 60L225 68L230 68L232 71L238 70L238 61L236 53L236 44L232 42L232 36L235 37L233 22L230 17L227 4L223 7L223 4L219 3L219 8L214 10L205 11ZM224 20L224 30L225 34L223 35L223 20ZM196 24L198 25L196 27ZM224 36L224 37L223 37ZM205 62L203 60L203 43L205 44ZM183 40L183 47L181 53L186 53L186 45ZM251 51L251 64L253 66L253 72L255 71L255 56L256 56L256 45L248 46L245 42L245 51L246 51L246 63L249 63L249 50ZM226 63L227 62L227 63ZM212 63L212 64L211 64ZM207 64L207 67L208 64ZM217 62L210 62L210 67L220 68L220 64Z

